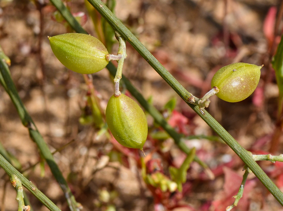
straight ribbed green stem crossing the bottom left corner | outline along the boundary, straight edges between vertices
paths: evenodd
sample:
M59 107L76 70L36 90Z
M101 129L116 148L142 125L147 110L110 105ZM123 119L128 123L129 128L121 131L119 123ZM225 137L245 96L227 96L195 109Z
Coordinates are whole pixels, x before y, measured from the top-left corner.
M25 178L17 169L15 169L2 155L0 155L0 167L11 178L13 175L20 179L22 185L27 188L44 206L51 211L61 211L47 196L38 190L27 178Z

